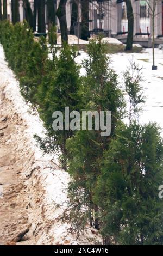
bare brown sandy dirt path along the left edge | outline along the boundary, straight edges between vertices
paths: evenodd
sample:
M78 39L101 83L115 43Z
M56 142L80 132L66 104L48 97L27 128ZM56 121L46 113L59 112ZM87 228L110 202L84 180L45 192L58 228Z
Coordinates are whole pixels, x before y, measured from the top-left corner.
M1 86L0 105L0 184L3 188L0 201L0 243L18 242L29 231L31 202L36 198L27 190L22 173L34 161L33 153L23 131L27 124L17 113L11 113L14 106L7 99ZM20 147L23 143L24 147ZM30 192L29 192L30 191Z

